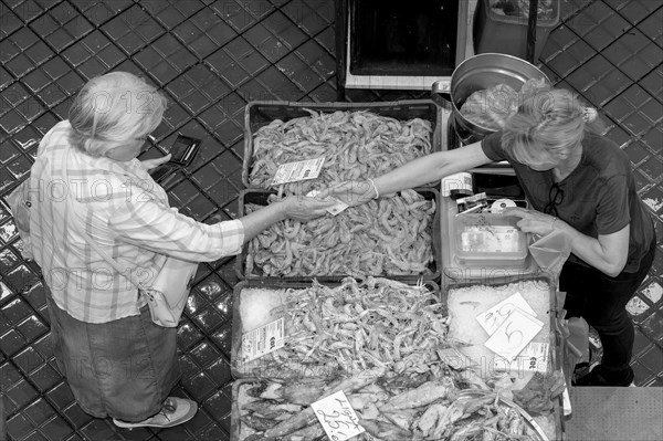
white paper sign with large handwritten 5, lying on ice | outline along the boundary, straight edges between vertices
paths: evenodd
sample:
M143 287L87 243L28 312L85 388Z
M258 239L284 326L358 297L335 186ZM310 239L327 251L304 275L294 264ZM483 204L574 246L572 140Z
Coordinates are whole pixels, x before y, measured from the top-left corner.
M514 309L486 340L485 346L495 354L513 360L541 330L544 324L523 312Z

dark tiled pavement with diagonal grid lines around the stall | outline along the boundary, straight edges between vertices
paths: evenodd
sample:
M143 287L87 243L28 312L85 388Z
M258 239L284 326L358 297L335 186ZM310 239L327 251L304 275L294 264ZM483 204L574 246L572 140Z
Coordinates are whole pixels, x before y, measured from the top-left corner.
M629 305L636 323L640 386L663 386L663 7L659 0L562 0L564 19L543 69L608 116L629 154L640 195L655 214L659 248ZM66 115L92 76L124 70L159 84L170 99L156 140L181 130L203 138L199 159L170 187L172 203L213 222L236 216L243 108L252 99L336 99L332 0L2 0L0 4L0 193L25 177L40 137ZM425 97L349 91L347 99ZM154 147L146 156L157 156ZM0 380L10 440L224 440L233 260L200 266L179 328L185 377L177 395L200 405L182 427L116 430L86 416L57 371L39 269L0 206Z

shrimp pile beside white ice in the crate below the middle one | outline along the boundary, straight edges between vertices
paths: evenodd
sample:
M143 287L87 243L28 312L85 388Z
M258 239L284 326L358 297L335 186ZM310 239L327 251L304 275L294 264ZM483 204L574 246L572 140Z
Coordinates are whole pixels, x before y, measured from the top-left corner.
M425 286L346 277L337 287L314 282L287 290L283 306L285 346L257 360L233 364L243 376L293 379L361 369L438 375L445 365L436 349L448 332L444 306ZM241 347L239 348L241 350Z

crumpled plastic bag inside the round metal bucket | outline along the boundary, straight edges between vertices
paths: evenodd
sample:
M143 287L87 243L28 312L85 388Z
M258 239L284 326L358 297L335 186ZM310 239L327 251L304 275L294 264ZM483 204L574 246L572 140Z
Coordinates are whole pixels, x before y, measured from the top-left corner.
M498 130L528 97L549 88L545 78L527 80L519 91L508 84L496 84L470 95L461 106L461 114L484 128Z

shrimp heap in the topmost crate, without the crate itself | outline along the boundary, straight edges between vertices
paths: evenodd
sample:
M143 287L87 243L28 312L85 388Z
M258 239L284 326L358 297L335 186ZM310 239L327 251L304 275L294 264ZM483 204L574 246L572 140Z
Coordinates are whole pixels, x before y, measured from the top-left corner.
M249 182L269 188L278 166L325 157L316 185L366 179L432 151L431 123L400 122L370 112L330 114L306 109L311 116L275 119L256 130ZM306 195L312 181L285 185L287 195Z

